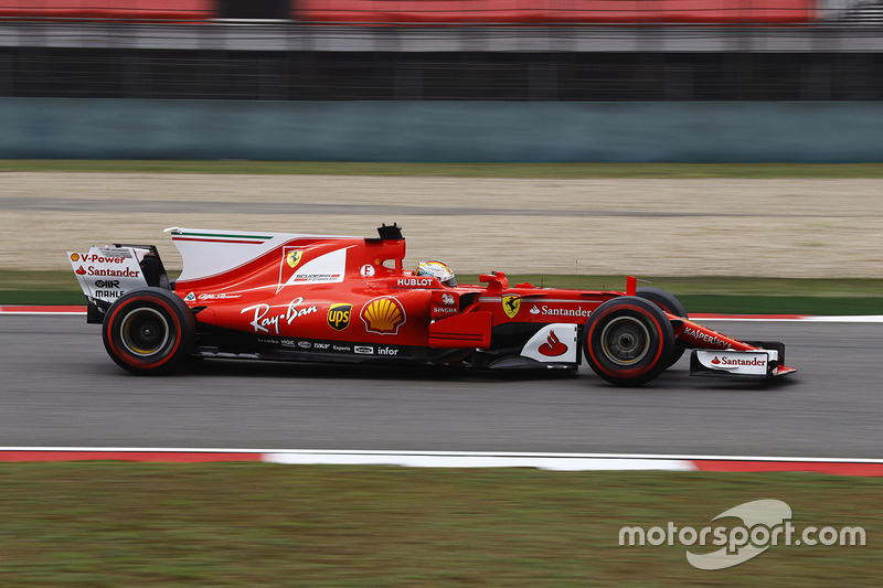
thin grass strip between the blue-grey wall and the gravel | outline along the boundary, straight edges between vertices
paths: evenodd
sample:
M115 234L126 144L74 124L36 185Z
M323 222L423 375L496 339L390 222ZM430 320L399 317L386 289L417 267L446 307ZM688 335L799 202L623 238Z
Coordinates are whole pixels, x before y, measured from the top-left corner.
M0 160L0 172L440 175L465 178L883 178L880 163L364 163L343 161Z

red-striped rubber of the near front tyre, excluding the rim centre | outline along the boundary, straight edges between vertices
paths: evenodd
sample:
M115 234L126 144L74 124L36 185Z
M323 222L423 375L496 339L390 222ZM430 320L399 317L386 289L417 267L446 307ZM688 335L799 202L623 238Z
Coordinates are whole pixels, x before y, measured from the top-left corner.
M602 332L619 317L637 319L647 328L650 349L635 367L617 367L602 351ZM599 306L583 329L583 351L592 370L617 385L640 386L656 378L669 365L674 351L674 332L664 312L650 301L637 297L620 297Z

